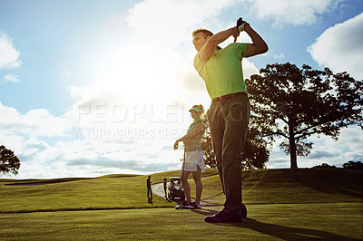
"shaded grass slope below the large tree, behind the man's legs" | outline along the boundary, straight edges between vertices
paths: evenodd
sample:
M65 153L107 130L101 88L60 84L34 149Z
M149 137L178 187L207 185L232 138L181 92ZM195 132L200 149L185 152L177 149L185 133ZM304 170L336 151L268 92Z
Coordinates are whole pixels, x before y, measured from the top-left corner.
M363 170L260 169L245 170L242 177L245 204L363 201ZM203 187L204 201L224 203L217 176L204 178Z

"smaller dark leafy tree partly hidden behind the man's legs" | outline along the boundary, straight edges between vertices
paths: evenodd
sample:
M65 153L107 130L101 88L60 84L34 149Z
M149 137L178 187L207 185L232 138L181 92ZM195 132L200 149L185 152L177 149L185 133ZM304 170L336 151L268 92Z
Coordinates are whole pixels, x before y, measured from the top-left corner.
M204 163L211 169L217 168L213 147L211 144L211 132L208 128L208 121L203 119L207 129L201 138L201 149L204 153ZM243 169L263 169L265 163L269 161L270 151L267 149L268 142L263 140L259 133L250 130L247 135L245 148L241 152Z

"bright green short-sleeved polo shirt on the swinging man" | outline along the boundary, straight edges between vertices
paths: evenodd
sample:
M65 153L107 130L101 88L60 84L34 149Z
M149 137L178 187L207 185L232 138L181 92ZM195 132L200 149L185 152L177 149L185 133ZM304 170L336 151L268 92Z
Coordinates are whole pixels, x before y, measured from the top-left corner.
M199 58L199 53L195 55L194 68L204 80L211 98L246 92L241 64L246 48L247 43L231 43L224 49L216 50L206 61Z

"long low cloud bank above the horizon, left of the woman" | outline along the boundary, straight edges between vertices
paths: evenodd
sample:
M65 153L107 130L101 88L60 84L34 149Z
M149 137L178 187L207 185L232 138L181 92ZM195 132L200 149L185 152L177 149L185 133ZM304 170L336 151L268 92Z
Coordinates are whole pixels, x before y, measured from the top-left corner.
M115 99L111 96L111 100ZM181 110L174 109L169 111L170 120L158 120L157 115L153 117L156 120L148 119L150 110L146 110L134 113L130 117L133 121L86 118L77 122L67 116L54 117L43 109L21 114L0 102L0 143L14 150L22 162L17 178L94 177L102 175L101 170L103 174L142 174L176 169L182 154L172 150L172 143L185 133L187 124L183 124L183 116L178 116ZM188 112L187 108L182 111ZM170 149L163 149L165 146Z

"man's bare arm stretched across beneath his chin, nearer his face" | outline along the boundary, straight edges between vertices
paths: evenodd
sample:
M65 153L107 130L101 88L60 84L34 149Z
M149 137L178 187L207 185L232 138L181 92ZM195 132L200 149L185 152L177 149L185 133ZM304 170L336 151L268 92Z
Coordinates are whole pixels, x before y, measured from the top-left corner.
M221 31L218 34L214 34L211 38L208 39L207 43L205 43L201 50L199 51L199 58L201 60L209 60L211 55L216 50L218 44L224 42L231 35L237 34L236 27L229 28L227 30Z

